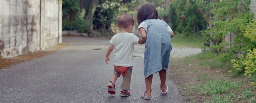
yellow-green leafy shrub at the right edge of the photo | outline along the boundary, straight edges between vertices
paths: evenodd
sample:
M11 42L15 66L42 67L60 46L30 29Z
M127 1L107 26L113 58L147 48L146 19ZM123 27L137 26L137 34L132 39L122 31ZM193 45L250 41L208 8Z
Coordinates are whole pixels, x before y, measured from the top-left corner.
M247 49L243 51L241 57L232 59L232 67L235 68L235 73L243 73L243 76L251 77L253 73L256 73L256 23L254 20L244 25L243 43L242 48ZM229 71L232 72L233 70Z

